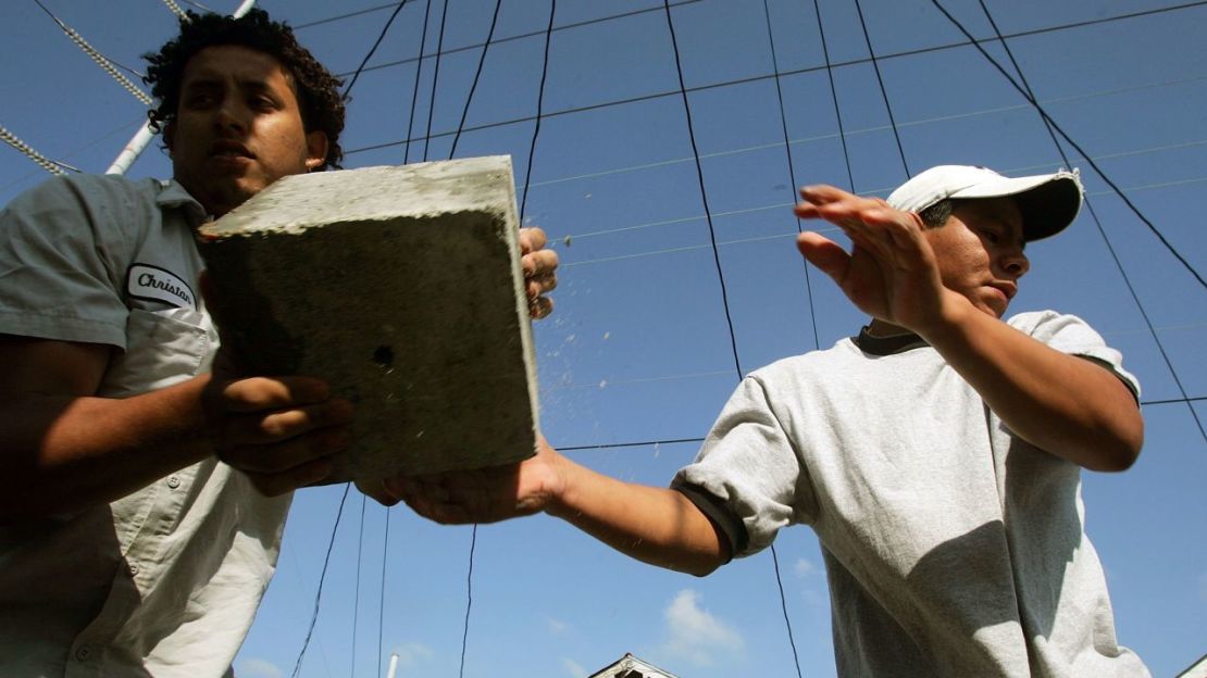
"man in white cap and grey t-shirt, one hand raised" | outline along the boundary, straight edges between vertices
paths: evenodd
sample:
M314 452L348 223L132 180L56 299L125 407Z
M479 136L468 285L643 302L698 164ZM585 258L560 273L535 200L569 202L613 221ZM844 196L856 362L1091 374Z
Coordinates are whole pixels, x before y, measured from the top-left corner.
M801 195L798 216L853 241L805 233L801 253L871 322L746 376L670 489L546 446L491 472L400 478L395 493L442 522L543 510L701 575L809 525L842 676L1148 676L1116 642L1080 498L1081 468L1139 454L1139 386L1080 318L1001 320L1024 246L1077 216L1078 176L947 165L887 201Z

